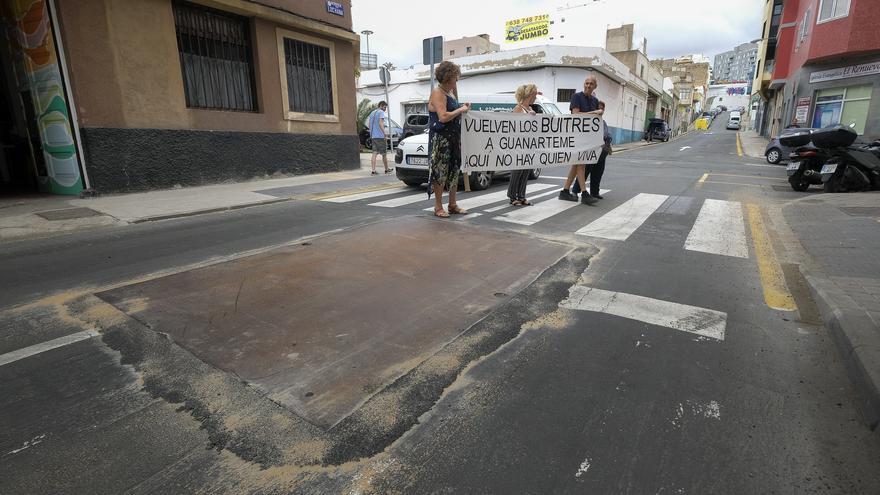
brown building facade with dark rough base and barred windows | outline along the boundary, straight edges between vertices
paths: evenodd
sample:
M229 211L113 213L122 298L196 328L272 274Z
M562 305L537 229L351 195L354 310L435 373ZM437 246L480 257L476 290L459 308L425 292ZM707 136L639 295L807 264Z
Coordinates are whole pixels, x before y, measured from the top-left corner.
M52 192L359 166L350 1L0 5L14 132Z

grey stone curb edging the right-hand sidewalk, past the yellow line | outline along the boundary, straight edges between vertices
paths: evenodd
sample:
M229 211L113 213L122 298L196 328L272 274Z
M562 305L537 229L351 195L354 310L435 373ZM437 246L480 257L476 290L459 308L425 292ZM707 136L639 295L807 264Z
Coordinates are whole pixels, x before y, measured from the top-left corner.
M868 427L880 431L880 328L831 280L800 267L855 385Z

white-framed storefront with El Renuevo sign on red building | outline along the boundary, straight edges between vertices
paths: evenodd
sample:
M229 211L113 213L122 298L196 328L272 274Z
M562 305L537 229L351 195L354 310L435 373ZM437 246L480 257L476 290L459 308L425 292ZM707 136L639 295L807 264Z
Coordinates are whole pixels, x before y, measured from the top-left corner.
M801 126L851 126L880 137L880 57L804 66L786 114Z

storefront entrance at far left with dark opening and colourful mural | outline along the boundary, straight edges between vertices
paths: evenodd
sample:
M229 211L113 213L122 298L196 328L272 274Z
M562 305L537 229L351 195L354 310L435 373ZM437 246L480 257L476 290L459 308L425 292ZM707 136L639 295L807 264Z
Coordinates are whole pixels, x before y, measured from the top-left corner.
M88 187L57 16L46 0L0 0L0 192Z

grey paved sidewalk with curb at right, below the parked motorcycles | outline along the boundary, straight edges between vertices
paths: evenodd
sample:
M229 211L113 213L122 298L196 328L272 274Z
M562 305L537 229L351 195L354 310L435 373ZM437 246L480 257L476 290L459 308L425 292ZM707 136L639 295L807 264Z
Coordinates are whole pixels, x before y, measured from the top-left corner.
M880 422L880 193L817 194L782 208L801 272L835 339L871 428Z

